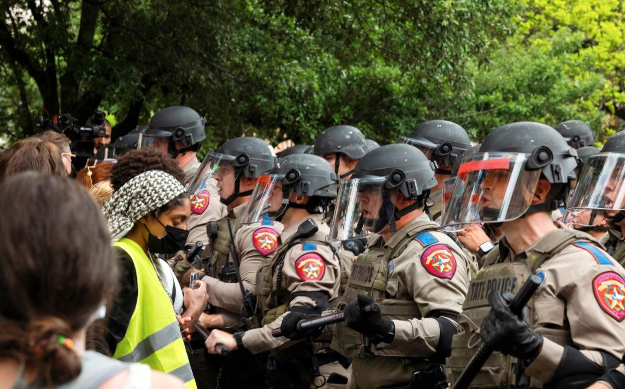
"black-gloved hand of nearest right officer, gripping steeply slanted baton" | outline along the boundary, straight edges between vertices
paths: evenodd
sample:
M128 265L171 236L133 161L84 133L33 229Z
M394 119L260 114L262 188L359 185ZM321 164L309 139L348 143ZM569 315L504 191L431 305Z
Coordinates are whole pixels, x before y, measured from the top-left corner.
M491 311L488 313L480 329L479 336L487 346L501 351L504 355L512 355L522 360L533 360L542 348L542 336L538 335L527 323L527 309L523 317L510 311L509 302L514 296L497 290L488 295Z

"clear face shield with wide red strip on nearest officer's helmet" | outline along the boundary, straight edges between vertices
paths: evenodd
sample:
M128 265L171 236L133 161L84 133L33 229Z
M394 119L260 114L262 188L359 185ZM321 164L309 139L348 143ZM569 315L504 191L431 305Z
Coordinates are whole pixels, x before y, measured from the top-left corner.
M530 154L480 153L466 156L449 189L441 226L461 230L476 223L499 223L522 216L534 198L540 169L528 171Z

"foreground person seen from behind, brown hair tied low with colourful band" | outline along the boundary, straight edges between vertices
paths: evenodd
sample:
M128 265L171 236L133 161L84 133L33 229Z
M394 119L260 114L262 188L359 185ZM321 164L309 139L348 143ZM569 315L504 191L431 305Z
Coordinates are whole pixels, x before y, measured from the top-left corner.
M3 385L184 387L146 365L85 351L86 327L111 299L118 275L102 214L86 190L69 179L21 173L2 184L0 213L14 216L0 218Z

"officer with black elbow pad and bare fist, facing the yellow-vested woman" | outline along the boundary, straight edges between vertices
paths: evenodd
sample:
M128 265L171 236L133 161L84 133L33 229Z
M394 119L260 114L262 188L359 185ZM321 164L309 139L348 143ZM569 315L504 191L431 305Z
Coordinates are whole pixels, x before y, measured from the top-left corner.
M267 375L277 388L309 386L318 375L311 342L287 345L287 338L274 338L271 331L280 328L289 311L319 314L338 296L338 258L326 240L329 227L321 220L324 208L336 197L337 182L331 166L309 154L280 159L259 181L264 195L252 199L251 214L271 212L284 225L281 245L258 270L256 301L262 326L234 335L213 330L206 341L211 353L217 352L217 345L252 353L271 350Z

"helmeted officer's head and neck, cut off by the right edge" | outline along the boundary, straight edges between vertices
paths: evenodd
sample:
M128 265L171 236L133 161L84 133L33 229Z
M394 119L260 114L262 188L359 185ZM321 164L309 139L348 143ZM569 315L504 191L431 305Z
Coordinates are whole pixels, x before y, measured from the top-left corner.
M567 204L567 221L580 228L607 228L601 243L625 266L625 132L607 139L601 152L587 158Z

